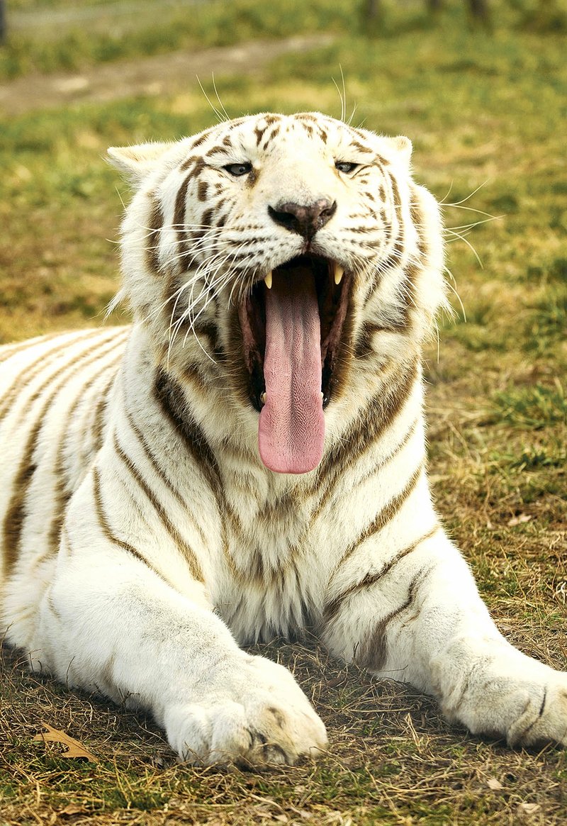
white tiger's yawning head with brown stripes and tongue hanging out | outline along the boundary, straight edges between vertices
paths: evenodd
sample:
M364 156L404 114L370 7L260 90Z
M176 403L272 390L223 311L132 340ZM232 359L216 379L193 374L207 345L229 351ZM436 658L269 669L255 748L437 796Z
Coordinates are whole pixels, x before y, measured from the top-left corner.
M333 411L418 358L445 300L409 140L261 114L109 155L135 183L123 293L159 363L229 396L267 468L312 470Z

